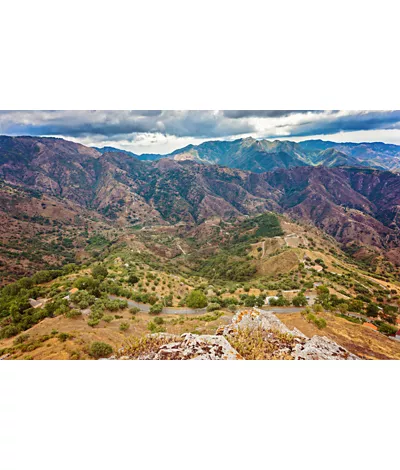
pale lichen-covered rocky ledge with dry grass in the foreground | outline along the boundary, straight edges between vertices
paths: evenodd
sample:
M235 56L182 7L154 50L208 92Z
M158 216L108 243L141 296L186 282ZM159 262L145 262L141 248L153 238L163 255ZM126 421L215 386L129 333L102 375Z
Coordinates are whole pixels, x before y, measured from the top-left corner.
M272 312L238 312L215 335L153 334L121 349L120 360L355 360L357 356L325 336L308 338L287 328Z

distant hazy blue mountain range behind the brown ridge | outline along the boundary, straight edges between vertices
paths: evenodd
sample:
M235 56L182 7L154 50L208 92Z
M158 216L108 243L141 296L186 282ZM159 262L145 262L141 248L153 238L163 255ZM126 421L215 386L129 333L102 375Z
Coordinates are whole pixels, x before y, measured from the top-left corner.
M98 148L101 153L121 151L113 147ZM123 151L139 160L169 158L176 161L192 160L249 170L255 173L298 166L360 166L396 171L400 168L400 146L373 143L336 143L323 140L290 142L280 140L210 141L188 145L167 155L136 155Z

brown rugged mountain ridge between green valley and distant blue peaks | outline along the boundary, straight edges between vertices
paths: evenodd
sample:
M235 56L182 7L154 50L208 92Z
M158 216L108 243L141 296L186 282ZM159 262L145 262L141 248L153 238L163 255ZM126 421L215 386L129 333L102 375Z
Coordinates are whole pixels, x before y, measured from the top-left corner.
M62 139L16 137L0 139L0 179L92 211L121 230L274 211L313 223L355 254L384 254L400 264L400 179L390 171L303 165L251 172L187 159L142 161ZM6 201L9 189L3 191Z

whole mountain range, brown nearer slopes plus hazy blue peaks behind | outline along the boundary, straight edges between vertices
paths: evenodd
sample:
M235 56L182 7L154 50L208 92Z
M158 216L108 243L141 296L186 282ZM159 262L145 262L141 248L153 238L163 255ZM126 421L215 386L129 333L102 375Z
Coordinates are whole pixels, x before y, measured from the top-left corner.
M149 161L63 139L3 136L0 237L3 244L10 242L15 224L16 232L35 231L28 222L33 218L37 224L49 207L54 207L52 217L58 217L66 231L76 224L84 224L86 231L96 224L113 230L195 226L212 218L274 211L324 230L356 257L384 256L400 265L399 175L347 166L352 159L367 161L360 153L360 146L367 144L340 144L334 149L330 144L209 142ZM367 155L374 161L388 162L389 154L397 151L392 145L368 145ZM235 164L233 155L238 156L237 164L253 171L229 167ZM313 164L307 163L311 160ZM336 166L341 161L346 165ZM273 171L261 172L266 162Z

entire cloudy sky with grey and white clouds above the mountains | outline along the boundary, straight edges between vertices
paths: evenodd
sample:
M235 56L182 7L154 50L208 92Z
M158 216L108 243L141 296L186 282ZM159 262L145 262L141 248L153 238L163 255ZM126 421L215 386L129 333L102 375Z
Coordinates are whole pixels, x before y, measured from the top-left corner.
M400 145L400 111L0 111L0 134L168 153L242 137Z

